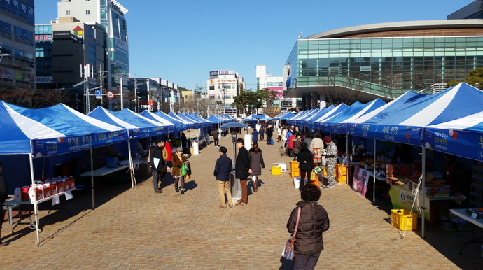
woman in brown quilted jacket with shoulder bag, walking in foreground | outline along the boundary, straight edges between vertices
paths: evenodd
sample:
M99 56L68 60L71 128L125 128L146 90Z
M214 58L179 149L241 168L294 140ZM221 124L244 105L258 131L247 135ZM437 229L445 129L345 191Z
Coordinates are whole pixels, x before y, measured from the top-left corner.
M323 232L330 226L329 216L323 206L317 204L321 189L315 185L304 185L300 192L301 201L290 213L287 229L294 234L294 270L314 269L323 250ZM299 214L300 208L300 214ZM298 218L297 218L298 215ZM297 222L298 221L298 222ZM297 232L295 232L297 227Z

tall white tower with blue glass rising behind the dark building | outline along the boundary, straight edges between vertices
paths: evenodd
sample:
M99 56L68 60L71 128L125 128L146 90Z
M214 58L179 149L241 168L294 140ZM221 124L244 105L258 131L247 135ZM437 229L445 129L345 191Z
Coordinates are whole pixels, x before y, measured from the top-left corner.
M106 29L107 88L118 90L120 79L129 80L129 42L127 38L127 9L116 0L62 0L57 3L59 17L73 16L81 22L97 22Z

